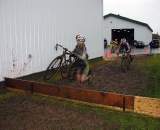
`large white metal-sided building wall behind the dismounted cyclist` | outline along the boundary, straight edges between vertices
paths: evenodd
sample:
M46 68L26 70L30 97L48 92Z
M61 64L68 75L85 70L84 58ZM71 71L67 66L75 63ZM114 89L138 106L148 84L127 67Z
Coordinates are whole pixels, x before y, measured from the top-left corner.
M0 81L45 70L78 33L90 58L103 55L103 0L0 0Z

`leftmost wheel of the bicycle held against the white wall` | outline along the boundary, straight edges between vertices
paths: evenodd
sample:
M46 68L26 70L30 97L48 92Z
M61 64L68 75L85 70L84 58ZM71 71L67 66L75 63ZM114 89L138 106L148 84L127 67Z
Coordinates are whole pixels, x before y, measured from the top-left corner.
M62 63L62 57L58 56L56 57L50 64L49 66L47 67L45 73L44 73L44 77L43 79L44 80L49 80L51 79L53 76L55 76L59 69L60 69L60 66L61 66L61 63Z

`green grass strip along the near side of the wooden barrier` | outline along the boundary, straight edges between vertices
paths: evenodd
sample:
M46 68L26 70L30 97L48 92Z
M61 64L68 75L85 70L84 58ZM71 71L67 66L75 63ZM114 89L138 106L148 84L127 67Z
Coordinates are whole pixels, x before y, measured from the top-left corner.
M106 128L108 128L109 130L110 129L113 129L113 130L159 130L160 129L160 119L151 118L151 117L147 117L147 116L143 116L143 115L139 115L131 112L124 113L124 112L114 111L106 108L104 109L100 107L93 107L90 105L81 104L78 102L66 101L63 99L57 99L49 96L32 95L27 97L23 94L6 92L5 94L2 94L2 93L0 94L0 103L5 103L5 102L7 103L7 100L11 98L12 99L24 98L23 102L26 102L25 100L30 100L31 102L38 103L39 107L41 107L41 105L46 106L44 105L45 103L47 104L48 107L51 107L51 108L54 106L56 106L59 109L65 108L67 110L72 110L72 111L81 113L82 116L90 113L100 118L103 121L103 125L107 126ZM23 102L21 103L23 104ZM10 107L12 108L12 106ZM5 113L10 113L10 112L6 112L7 110L5 108L3 110ZM23 113L22 113L22 116L23 116ZM15 118L18 118L18 117L15 117ZM14 118L12 120L14 120ZM16 125L20 125L20 123L17 123ZM101 130L102 128L99 127L95 129Z

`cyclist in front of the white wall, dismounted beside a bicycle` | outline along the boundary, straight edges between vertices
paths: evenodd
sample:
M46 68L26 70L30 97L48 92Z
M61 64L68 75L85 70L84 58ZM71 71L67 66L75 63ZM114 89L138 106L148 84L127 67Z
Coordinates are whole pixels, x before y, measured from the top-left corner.
M85 37L82 37L81 35L76 35L76 41L77 45L73 50L73 53L79 59L76 64L77 65L76 79L78 82L82 83L88 80L89 78L88 54L87 54L87 48L85 46Z

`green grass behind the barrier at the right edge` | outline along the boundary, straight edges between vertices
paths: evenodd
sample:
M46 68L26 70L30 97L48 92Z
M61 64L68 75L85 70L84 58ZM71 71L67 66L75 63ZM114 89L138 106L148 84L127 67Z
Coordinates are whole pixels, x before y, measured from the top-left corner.
M160 55L147 57L136 63L137 67L148 76L146 96L160 98Z

